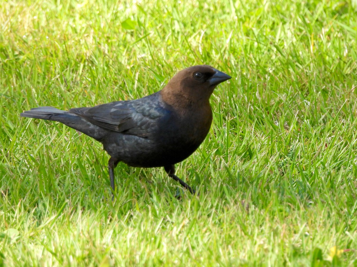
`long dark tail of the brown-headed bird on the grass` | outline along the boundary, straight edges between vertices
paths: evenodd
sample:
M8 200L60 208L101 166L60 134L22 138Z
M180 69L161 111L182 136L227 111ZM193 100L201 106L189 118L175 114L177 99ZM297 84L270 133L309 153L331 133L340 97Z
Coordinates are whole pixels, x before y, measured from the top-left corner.
M20 114L21 117L36 118L42 120L59 121L63 124L80 131L94 139L101 141L108 131L91 124L89 121L82 119L76 114L53 108L51 106L41 106L31 110L24 111Z

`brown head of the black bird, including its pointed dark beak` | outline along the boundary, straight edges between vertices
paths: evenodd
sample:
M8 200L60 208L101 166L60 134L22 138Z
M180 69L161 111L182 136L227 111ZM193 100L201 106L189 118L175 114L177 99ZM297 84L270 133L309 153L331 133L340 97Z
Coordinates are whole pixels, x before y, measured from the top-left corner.
M209 105L216 86L231 78L208 65L192 66L172 77L161 91L162 99L177 108Z

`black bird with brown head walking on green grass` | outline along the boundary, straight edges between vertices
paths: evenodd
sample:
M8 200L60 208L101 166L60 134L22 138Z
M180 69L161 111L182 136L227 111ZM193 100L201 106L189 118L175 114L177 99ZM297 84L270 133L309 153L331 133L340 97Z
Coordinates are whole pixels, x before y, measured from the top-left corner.
M169 177L195 194L175 175L183 161L205 140L212 124L210 96L232 77L208 65L179 71L164 88L135 100L114 101L67 111L51 106L32 108L22 117L58 121L103 144L109 154L110 185L114 198L114 168L164 167Z

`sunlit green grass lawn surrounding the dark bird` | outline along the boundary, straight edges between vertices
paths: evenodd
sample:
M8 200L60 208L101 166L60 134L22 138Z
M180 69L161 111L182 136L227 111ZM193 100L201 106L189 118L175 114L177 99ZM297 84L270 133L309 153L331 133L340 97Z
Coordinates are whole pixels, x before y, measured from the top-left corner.
M357 7L135 2L0 2L0 266L355 266ZM203 63L233 79L177 164L198 197L120 163L112 202L99 142L19 116L140 98Z

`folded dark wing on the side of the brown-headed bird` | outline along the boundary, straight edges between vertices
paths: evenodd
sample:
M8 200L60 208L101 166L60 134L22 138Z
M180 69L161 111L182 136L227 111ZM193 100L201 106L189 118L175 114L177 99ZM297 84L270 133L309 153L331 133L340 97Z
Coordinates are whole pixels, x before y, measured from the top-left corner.
M155 131L157 120L170 111L162 106L157 96L137 100L116 101L93 108L75 108L70 112L102 129L145 137Z

